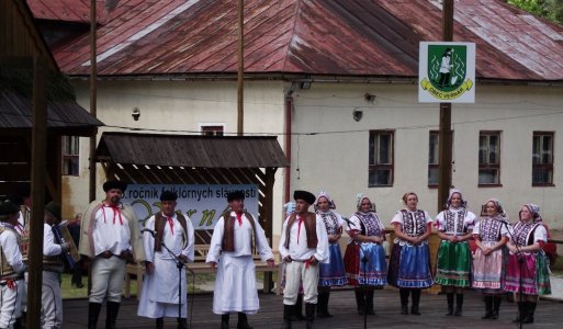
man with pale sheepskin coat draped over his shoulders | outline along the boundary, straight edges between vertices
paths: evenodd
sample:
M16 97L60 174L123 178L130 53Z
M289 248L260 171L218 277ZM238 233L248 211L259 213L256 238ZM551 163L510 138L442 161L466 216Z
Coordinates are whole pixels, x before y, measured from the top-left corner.
M115 328L126 262L145 261L137 216L121 203L126 188L121 181L105 182L105 198L90 203L80 226L79 252L90 259L92 280L88 328L95 328L105 296L105 328Z

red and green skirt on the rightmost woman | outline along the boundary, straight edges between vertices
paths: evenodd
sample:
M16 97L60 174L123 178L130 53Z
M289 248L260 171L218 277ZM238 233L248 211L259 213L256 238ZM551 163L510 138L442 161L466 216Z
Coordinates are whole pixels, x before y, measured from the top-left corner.
M520 262L518 261L519 257L523 260L521 268ZM521 256L510 254L508 257L505 291L519 293L520 277L522 280L522 294L551 294L549 266L543 251L538 253L525 252Z

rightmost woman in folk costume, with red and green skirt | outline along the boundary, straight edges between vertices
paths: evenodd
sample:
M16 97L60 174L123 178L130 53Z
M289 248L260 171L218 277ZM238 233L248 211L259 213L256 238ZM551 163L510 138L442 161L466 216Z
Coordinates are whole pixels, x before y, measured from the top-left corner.
M519 316L516 321L533 324L538 295L551 294L549 261L542 250L548 241L548 231L541 224L539 206L526 204L519 215L520 222L514 226L507 243L510 254L505 291L514 292L518 300Z

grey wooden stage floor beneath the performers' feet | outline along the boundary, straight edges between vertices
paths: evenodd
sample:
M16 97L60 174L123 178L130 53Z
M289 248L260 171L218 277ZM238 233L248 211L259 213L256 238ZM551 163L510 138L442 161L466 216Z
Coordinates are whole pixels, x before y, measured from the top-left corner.
M189 296L190 304L192 296ZM192 329L218 329L221 316L214 315L212 309L213 295L193 295ZM257 315L249 316L254 329L278 329L282 327L282 296L274 294L260 294L261 309ZM420 300L421 316L399 315L398 292L392 288L375 291L375 316L368 316L368 328L518 328L513 324L516 318L515 303L503 300L500 318L498 320L482 320L484 303L481 294L468 292L463 307L463 316L447 317L446 296L423 293ZM190 311L190 310L189 310ZM356 313L356 298L353 291L340 290L330 294L329 311L333 318L316 319L315 328L363 328L363 317ZM88 300L64 300L64 329L87 328ZM236 315L230 316L230 328L236 328ZM102 308L98 328L104 328L105 307ZM526 328L562 328L563 303L540 300L536 311L536 324L523 325ZM153 319L137 316L137 300L135 297L123 299L117 328L155 328ZM176 319L167 318L165 328L176 328ZM293 329L305 328L305 322L293 322Z

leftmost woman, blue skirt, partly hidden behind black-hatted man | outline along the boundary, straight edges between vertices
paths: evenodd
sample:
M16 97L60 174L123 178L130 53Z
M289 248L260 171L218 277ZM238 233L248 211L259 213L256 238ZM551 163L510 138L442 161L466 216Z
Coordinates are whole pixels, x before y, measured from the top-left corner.
M340 253L340 245L338 240L342 235L344 219L340 214L331 209L336 208L335 202L326 194L320 192L314 203L317 216L320 216L328 236L328 252L330 261L328 264L320 263L318 268L318 300L317 317L331 317L328 313L328 299L330 296L330 287L345 285L348 283L346 279L342 254Z

